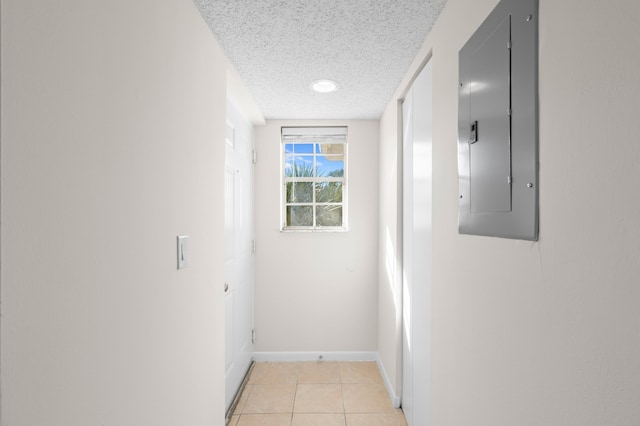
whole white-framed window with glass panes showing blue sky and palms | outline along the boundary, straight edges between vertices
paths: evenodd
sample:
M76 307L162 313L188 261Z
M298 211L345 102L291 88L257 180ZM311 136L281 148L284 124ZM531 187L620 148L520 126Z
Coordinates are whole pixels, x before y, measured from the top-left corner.
M283 230L346 230L346 127L282 128Z

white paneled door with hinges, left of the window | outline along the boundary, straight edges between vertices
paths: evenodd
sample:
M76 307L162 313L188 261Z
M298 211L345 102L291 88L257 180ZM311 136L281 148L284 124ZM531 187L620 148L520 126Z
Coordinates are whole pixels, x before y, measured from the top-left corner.
M253 128L227 102L225 151L225 407L253 356Z

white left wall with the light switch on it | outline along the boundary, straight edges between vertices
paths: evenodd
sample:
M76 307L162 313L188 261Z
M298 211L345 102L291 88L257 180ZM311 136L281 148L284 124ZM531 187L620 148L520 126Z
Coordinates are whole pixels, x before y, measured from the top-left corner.
M2 0L2 425L223 424L226 73L189 0Z

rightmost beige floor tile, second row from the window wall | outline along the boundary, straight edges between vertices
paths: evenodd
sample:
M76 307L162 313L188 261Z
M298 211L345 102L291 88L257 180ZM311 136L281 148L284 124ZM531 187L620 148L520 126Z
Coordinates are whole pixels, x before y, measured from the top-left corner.
M380 383L344 383L342 395L346 413L394 413L389 394Z

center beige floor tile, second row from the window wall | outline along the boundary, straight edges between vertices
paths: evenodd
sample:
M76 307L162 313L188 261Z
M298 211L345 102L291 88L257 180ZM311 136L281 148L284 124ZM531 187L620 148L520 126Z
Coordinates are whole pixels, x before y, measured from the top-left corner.
M340 384L301 383L296 391L294 413L344 413Z

